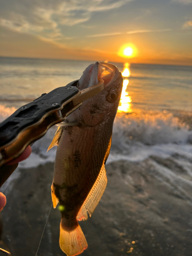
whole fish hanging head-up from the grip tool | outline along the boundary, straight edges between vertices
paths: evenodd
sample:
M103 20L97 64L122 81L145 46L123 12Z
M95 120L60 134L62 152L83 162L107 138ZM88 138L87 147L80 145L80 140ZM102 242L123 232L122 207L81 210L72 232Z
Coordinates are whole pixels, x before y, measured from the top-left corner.
M58 128L48 148L57 145L51 195L53 207L59 203L61 212L59 245L68 256L87 249L78 221L91 217L107 183L104 165L123 79L116 66L97 61L84 70L77 88L95 86L98 78L104 80L104 89L67 117L69 126Z

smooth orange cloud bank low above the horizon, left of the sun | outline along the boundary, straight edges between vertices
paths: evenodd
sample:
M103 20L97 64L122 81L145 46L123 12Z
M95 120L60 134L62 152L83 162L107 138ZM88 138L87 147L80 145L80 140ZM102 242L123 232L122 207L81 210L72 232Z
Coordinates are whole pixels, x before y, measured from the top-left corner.
M44 37L17 33L3 28L0 40L0 56L105 60L109 53L95 49L71 48ZM13 44L8 44L14 42ZM26 44L27 42L27 44Z

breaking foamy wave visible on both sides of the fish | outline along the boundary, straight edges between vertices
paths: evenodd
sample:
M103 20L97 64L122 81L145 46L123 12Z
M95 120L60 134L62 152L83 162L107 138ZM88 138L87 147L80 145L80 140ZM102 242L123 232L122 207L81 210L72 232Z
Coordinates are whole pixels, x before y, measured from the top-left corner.
M0 122L14 111L13 107L0 105ZM21 162L20 168L54 162L56 147L46 152L56 130L56 126L51 127L44 137L34 143L30 158ZM107 164L118 160L140 162L152 156L167 158L173 155L192 158L190 112L136 109L130 114L117 113Z

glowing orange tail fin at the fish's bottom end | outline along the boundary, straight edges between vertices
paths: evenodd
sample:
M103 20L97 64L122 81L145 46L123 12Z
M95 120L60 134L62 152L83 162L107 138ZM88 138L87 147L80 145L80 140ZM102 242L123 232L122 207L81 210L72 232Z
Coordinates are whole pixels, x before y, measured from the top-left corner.
M68 256L78 255L88 248L88 243L79 225L74 230L67 231L60 224L59 245Z

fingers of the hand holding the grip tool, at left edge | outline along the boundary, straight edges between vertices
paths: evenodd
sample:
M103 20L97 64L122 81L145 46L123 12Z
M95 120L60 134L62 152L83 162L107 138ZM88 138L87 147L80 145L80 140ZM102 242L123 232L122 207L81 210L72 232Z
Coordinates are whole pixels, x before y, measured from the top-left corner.
M27 146L25 151L20 155L18 158L14 159L13 161L7 163L6 165L3 165L1 169L6 170L6 172L12 174L12 172L16 169L18 166L18 162L21 162L25 159L27 159L31 155L31 146ZM0 211L3 210L4 206L6 205L6 196L0 192Z

